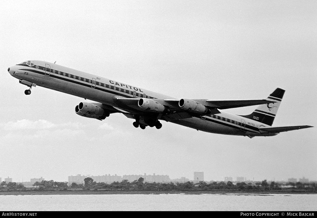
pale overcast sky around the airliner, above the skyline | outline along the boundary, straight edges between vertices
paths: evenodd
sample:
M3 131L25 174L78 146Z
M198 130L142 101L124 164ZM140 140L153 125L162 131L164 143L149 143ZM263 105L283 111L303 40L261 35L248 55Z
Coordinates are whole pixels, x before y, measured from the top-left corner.
M317 180L316 128L217 135L75 113L84 99L27 88L8 67L42 60L192 99L285 95L273 126L317 126L316 1L2 1L0 177L159 174ZM226 110L249 114L254 107Z

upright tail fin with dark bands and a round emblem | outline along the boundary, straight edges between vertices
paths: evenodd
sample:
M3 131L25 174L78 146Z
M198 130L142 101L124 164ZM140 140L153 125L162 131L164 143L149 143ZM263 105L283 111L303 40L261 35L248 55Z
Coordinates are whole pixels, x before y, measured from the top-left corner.
M244 115L242 117L253 119L271 126L273 124L277 110L281 104L284 93L285 90L283 89L275 89L275 91L267 98L267 100L276 101L275 103L259 105L253 113L249 115Z

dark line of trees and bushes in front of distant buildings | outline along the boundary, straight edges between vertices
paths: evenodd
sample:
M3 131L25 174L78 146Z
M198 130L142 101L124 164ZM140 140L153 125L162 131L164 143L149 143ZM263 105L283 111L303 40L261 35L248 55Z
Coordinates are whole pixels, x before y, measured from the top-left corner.
M283 187L281 183L270 182L263 180L262 182L253 183L232 183L232 182L212 182L206 183L200 181L198 183L185 182L185 183L148 183L144 182L144 178L140 177L138 180L129 182L123 180L121 182L107 183L96 183L92 178L87 177L84 179L84 184L72 183L68 185L67 182L55 182L53 180L35 182L34 188L27 189L21 183L0 183L0 190L8 191L45 191L45 190L60 190L66 191L69 189L82 189L82 190L138 190L138 191L279 191L279 190L300 190L304 192L316 192L317 183L286 183L290 187Z

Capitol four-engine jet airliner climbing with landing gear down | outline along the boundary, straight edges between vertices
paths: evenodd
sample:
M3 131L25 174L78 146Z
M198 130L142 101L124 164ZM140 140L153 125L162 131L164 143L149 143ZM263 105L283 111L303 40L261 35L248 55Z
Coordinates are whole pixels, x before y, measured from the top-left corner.
M24 92L26 95L31 94L32 87L41 86L89 99L95 102L80 102L75 106L76 114L104 120L112 113L122 113L134 119L133 126L141 129L146 126L160 129L160 120L164 120L197 131L253 138L313 127L272 127L285 93L281 88L276 88L266 99L177 99L46 61L23 61L9 67L8 72L29 87ZM258 107L249 115L221 111L254 105Z

